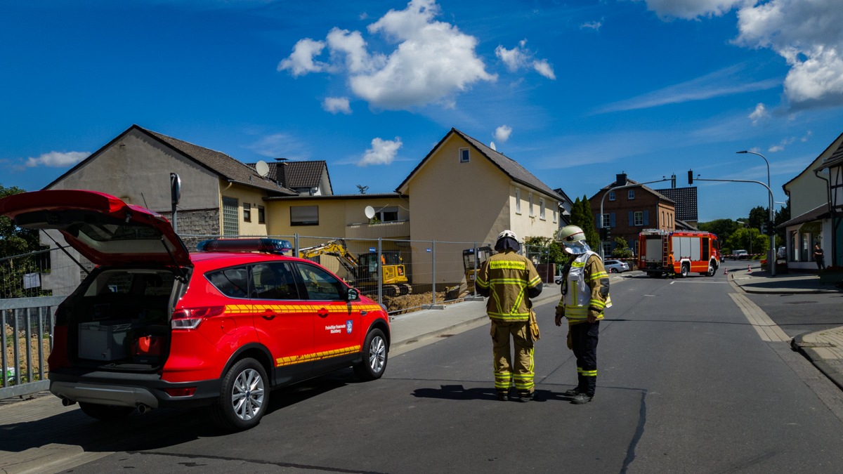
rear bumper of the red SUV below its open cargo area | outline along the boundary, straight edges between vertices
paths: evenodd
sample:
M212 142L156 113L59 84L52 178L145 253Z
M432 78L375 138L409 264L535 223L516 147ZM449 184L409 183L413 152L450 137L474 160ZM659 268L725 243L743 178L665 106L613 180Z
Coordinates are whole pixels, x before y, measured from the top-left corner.
M51 372L50 391L69 401L116 407L189 407L209 405L220 394L220 380L171 383L158 374ZM165 389L196 387L192 396L170 396Z

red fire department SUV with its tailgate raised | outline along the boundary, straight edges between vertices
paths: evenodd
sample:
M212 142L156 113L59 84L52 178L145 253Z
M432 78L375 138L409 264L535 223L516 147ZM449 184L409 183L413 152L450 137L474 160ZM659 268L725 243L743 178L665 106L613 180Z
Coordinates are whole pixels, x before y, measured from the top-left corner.
M56 229L97 267L56 310L50 391L99 419L209 405L260 422L270 390L352 366L386 369L384 307L284 240L212 240L189 253L167 219L94 191L0 200L21 228Z

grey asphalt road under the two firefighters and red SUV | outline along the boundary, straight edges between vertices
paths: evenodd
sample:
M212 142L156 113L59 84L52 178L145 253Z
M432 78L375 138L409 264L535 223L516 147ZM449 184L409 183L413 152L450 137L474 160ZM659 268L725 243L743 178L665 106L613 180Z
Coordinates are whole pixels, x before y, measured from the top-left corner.
M549 303L538 307L539 401L494 399L484 326L391 358L382 380L345 371L273 392L270 412L244 433L166 410L110 427L74 411L62 415L74 417L72 433L52 433L49 420L32 428L114 452L75 473L839 471L840 390L787 342L761 341L733 292L719 274L613 283L598 392L583 406L562 396L576 364ZM752 301L788 334L835 324L804 312L834 299L778 298Z

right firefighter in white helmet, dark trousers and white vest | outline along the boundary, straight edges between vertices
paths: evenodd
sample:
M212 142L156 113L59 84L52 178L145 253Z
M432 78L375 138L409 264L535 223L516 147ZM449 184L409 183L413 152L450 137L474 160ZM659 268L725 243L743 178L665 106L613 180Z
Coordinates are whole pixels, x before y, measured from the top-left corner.
M566 391L572 403L588 403L597 386L597 340L609 299L609 274L600 256L585 240L583 229L567 225L556 233L569 261L562 270L562 297L556 306L556 326L568 319L569 347L577 358L577 388Z

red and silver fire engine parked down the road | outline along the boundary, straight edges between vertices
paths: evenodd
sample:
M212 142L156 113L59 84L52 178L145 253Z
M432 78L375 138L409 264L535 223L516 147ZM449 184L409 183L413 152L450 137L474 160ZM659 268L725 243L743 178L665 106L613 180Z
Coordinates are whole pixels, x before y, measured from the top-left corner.
M638 249L638 269L651 277L691 272L713 277L720 266L720 242L710 232L646 229L638 234Z

